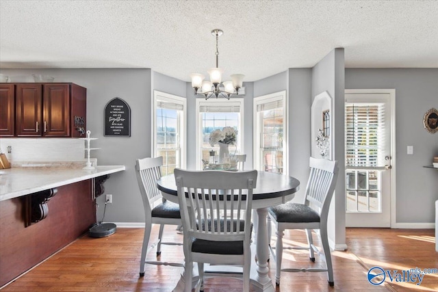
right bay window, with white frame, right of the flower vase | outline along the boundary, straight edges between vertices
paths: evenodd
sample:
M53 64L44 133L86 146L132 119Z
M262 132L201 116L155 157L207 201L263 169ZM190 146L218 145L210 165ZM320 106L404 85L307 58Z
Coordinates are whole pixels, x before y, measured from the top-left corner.
M254 98L255 168L283 174L287 171L286 92Z

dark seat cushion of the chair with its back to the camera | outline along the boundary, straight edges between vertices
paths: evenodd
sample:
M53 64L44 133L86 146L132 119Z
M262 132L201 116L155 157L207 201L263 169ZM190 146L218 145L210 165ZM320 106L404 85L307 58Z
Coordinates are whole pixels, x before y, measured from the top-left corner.
M214 221L216 224L216 220ZM236 227L236 222L233 224ZM239 228L244 230L244 220L240 220ZM205 228L205 222L202 223ZM211 226L211 220L208 220L207 226ZM231 222L227 220L228 229L231 226ZM224 230L224 220L220 220L220 230ZM251 231L253 230L253 224L251 224ZM192 252L201 252L203 254L243 254L244 242L243 241L212 241L205 239L193 239Z

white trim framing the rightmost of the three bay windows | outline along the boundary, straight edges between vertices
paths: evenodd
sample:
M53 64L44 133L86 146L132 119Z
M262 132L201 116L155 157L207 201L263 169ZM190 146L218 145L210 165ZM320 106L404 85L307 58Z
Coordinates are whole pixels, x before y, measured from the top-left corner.
M253 165L256 170L263 170L260 168L261 161L259 158L259 145L260 145L260 131L259 131L259 122L257 120L257 106L265 103L270 103L274 101L282 101L283 102L283 174L289 174L289 104L287 103L286 98L286 90L280 92L274 92L271 94L266 94L263 96L257 96L254 98L253 105Z

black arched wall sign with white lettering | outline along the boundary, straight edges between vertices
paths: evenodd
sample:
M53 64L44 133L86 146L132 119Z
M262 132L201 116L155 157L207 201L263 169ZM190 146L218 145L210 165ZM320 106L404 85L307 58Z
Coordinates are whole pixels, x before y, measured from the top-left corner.
M105 105L105 136L131 137L131 108L121 98Z

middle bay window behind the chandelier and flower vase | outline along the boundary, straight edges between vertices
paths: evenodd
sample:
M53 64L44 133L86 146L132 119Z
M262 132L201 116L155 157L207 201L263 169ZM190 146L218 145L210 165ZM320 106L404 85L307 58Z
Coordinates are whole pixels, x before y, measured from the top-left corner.
M208 101L196 99L196 169L202 170L203 161L209 161L209 152L214 150L218 156L219 146L211 146L210 133L232 127L237 130L235 145L229 146L229 154L240 154L243 141L243 98Z

